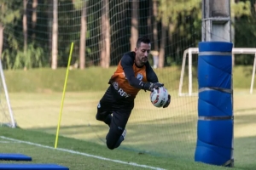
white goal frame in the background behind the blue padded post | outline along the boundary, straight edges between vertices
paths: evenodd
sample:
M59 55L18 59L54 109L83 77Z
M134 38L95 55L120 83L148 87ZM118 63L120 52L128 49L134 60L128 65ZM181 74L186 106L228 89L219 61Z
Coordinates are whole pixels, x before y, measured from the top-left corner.
M192 92L192 54L198 54L198 48L188 48L183 53L183 64L182 70L180 75L179 87L178 87L178 96L196 96L197 93ZM252 81L251 81L251 88L250 94L253 94L253 82L255 77L255 70L256 70L256 48L233 48L232 54L254 54L254 62L253 62L253 74L252 74ZM186 66L186 58L189 58L189 93L185 94L182 92L183 89L183 77L184 71Z

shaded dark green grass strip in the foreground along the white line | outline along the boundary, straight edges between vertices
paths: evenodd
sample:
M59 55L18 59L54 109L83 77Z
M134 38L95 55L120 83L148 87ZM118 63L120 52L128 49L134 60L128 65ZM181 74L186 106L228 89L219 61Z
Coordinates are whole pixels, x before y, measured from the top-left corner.
M50 146L54 144L55 136L47 133L34 132L31 130L11 129L8 127L1 127L1 135L8 136L12 139L19 139L22 141L30 141L33 144L43 144ZM1 139L1 141L9 141ZM44 148L42 146L35 146L32 144L23 143L1 143L1 151L5 153L23 153L27 156L32 156L32 163L55 163L62 166L67 166L72 170L80 169L145 169L144 167L136 167L131 163L135 162L140 165L147 165L150 167L161 167L165 169L225 169L224 167L209 166L197 162L184 163L177 159L162 156L150 156L148 154L137 153L130 150L107 150L106 147L78 139L68 139L60 137L59 147L61 149L79 151L91 156L101 156L108 158L109 161L99 160L95 157L81 156L76 153L69 153L62 150L54 150ZM127 164L113 162L113 160L124 161ZM15 161L1 161L14 163ZM22 161L22 163L25 163ZM155 168L156 169L156 168ZM236 168L235 168L236 169Z

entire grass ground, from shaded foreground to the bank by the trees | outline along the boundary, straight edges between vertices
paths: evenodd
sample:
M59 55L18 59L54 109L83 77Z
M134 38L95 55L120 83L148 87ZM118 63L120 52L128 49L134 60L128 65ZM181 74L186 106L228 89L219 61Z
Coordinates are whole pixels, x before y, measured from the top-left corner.
M240 75L242 70L249 69L238 68L236 71L239 74L236 76L240 77L241 83L249 88L249 84L245 82L250 82L250 77L242 77ZM95 71L89 72L96 74ZM168 90L172 94L172 105L166 110L154 108L149 103L149 94L140 92L126 127L127 138L118 150L107 149L104 139L108 127L95 119L96 105L104 93L103 89L108 84L96 82L96 86L91 87L95 90L78 90L76 92L74 89L81 89L84 84L88 86L88 83L93 82L90 80L91 77L85 83L86 77L76 75L77 83L69 82L70 87L65 97L58 143L58 148L67 150L54 150L49 147L54 147L55 143L62 95L59 86L63 86L58 83L63 79L55 77L56 81L53 83L54 87L59 87L58 89L48 88L48 86L50 87L49 81L45 81L45 85L44 79L49 80L51 79L49 77L53 77L52 75L43 78L40 74L36 77L37 75L32 72L26 72L27 77L30 77L31 80L36 79L36 81L20 79L20 86L24 86L21 90L15 83L19 82L19 78L16 80L14 75L18 74L22 77L22 72L7 72L6 75L9 75L7 82L14 83L13 86L10 86L9 97L15 113L15 120L21 129L0 128L1 135L10 138L0 138L0 145L4 146L1 147L1 150L2 152L19 151L35 157L33 162L55 162L70 167L70 169L157 169L157 167L165 169L224 169L224 167L194 162L197 97L177 96L179 72L175 68L166 70L166 72L172 71L172 75L165 79L165 83L169 86ZM234 72L236 73L236 71ZM44 75L44 71L35 72L35 74L41 72ZM105 76L102 73L100 80L108 79L106 77L110 72L106 71ZM31 75L28 76L28 74ZM55 74L59 73L55 72ZM160 71L159 74L160 79L167 77L165 71ZM80 80L81 77L84 77L84 81ZM61 80L57 81L58 79ZM73 77L74 80L76 79ZM32 89L30 93L27 92L29 88L25 88L26 84ZM186 83L184 85L187 86ZM15 88L16 86L17 88ZM241 84L239 86L243 87ZM196 88L194 88L195 91ZM256 167L254 161L256 157L256 93L249 94L248 88L236 88L234 92L234 169L254 169ZM86 154L90 154L90 156ZM109 160L96 156L102 156ZM131 162L144 166L137 166Z

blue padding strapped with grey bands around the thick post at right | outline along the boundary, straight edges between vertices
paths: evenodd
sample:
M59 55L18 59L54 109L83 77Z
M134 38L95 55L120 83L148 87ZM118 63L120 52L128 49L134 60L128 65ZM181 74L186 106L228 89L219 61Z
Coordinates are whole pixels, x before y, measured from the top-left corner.
M198 122L195 161L233 165L232 47L200 42Z

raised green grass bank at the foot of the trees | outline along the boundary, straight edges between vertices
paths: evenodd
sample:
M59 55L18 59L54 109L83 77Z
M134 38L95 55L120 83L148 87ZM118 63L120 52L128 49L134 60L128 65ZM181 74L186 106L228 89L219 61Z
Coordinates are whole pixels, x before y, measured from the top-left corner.
M68 74L67 91L103 91L108 87L108 79L115 67L102 69L90 67L84 71L71 70ZM160 82L167 89L177 90L181 68L178 66L157 69ZM233 69L234 88L250 88L253 66L236 66ZM62 92L66 77L66 69L34 69L28 71L4 71L9 92L47 93ZM196 70L193 70L193 86L197 88ZM255 86L254 86L255 87ZM183 90L188 88L188 68L183 79Z

